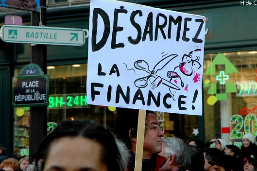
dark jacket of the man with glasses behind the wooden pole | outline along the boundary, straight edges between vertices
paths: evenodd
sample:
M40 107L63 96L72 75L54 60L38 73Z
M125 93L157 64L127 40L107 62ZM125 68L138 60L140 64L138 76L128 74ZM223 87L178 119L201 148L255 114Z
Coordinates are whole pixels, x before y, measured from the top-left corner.
M127 171L134 171L135 170L135 154L130 151L130 162L127 167ZM143 159L142 163L142 171L160 171L159 169L165 164L166 157L161 155L156 155L151 159Z

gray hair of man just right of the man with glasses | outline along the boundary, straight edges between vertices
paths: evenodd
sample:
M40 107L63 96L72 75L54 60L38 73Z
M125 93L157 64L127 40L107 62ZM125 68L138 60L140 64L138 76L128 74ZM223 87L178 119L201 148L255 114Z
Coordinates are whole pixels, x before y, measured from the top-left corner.
M191 157L187 144L178 137L162 137L162 145L166 147L165 157L173 154L176 158L175 165L187 166L191 163Z

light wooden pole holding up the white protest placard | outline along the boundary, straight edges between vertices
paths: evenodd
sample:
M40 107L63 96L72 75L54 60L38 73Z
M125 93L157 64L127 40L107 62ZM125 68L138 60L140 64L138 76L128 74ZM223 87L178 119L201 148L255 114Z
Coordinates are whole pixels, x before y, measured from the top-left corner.
M146 110L139 110L137 123L137 146L136 146L136 161L135 171L142 170L144 135L145 135L145 117Z

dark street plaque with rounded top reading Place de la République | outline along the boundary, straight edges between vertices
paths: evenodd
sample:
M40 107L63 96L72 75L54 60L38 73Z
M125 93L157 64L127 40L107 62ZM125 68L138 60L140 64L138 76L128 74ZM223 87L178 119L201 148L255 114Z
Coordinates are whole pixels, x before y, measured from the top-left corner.
M49 104L49 75L36 64L28 64L13 77L13 107L46 106Z

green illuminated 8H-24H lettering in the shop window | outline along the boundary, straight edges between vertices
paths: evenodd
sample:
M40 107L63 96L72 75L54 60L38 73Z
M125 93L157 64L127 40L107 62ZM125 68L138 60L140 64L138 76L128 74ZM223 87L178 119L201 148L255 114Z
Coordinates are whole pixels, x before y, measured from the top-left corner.
M57 108L85 108L90 107L89 104L86 103L86 93L81 94L53 94L49 97L49 105L50 109Z

